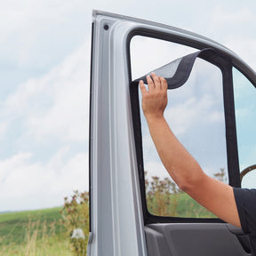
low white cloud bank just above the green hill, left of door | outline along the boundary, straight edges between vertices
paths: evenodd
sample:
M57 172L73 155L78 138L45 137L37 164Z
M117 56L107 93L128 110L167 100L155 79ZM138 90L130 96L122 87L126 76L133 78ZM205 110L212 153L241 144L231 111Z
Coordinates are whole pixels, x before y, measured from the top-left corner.
M67 155L68 148L60 148L48 164L33 163L28 152L0 161L0 212L53 207L75 189L88 191L88 154Z

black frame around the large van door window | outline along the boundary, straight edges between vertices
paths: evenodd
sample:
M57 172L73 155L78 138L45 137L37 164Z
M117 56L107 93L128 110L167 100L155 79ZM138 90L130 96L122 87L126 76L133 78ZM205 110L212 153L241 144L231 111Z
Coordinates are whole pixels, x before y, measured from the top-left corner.
M195 49L202 50L204 48L209 48L208 44L200 43L196 40L184 40L182 36L170 35L168 33L159 32L156 30L151 30L149 28L137 28L130 32L127 36L126 49L127 49L127 61L129 70L129 83L132 83L132 62L131 62L131 49L130 44L133 36L146 36L155 39L160 39L176 44L183 44L186 46L194 47ZM222 75L222 92L223 92L223 104L224 104L224 114L225 114L225 129L226 129L226 145L227 145L227 158L228 158L228 181L229 185L236 188L241 188L240 181L240 169L238 160L238 149L237 149L237 139L236 139L236 116L235 116L235 103L234 103L234 90L233 90L233 75L232 68L233 63L231 58L225 52L220 52L218 49L214 49L218 52L219 57L209 59L207 56L201 57L213 65L220 68ZM148 70L149 71L149 70ZM242 72L243 73L243 72ZM244 74L244 73L243 73ZM245 76L245 75L244 75ZM133 132L138 164L138 172L140 179L140 195L141 195L141 205L144 217L144 224L151 223L222 223L223 220L218 218L183 218L183 217L165 217L157 216L148 212L147 199L146 199L146 188L145 188L145 175L144 175L144 160L143 160L143 150L142 150L142 134L141 134L141 124L140 124L140 101L138 93L139 85L130 86L130 97L131 97L131 107L132 107L132 123Z

